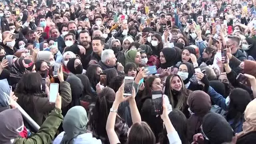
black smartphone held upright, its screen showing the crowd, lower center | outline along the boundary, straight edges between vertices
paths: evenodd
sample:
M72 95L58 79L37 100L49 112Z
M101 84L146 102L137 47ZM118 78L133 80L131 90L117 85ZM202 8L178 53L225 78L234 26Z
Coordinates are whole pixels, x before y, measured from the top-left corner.
M163 94L161 90L152 91L152 115L160 115L163 113Z

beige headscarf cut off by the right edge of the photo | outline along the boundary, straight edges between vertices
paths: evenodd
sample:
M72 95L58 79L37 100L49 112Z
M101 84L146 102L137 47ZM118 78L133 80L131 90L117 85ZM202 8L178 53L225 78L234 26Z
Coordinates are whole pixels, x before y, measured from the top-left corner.
M238 138L256 131L256 99L252 100L244 111L243 131L238 133Z

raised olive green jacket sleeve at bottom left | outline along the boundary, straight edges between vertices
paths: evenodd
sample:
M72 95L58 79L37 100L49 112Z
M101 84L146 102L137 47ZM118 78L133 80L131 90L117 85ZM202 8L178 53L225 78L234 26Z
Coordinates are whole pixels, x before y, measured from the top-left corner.
M61 113L60 109L55 108L34 136L28 139L15 138L13 144L51 144L60 123L63 121Z

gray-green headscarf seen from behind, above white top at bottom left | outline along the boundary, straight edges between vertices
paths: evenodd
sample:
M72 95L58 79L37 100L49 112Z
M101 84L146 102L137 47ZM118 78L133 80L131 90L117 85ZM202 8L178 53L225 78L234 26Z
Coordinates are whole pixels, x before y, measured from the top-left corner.
M80 134L86 133L87 123L87 113L82 106L74 106L70 108L62 122L62 127L65 133L60 144L73 144L74 138Z

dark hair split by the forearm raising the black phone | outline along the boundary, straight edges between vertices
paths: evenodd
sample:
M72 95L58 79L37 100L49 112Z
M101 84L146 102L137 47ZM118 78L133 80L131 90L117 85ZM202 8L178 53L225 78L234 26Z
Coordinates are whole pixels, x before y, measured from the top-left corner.
M186 116L182 113L182 111L178 109L172 110L172 112L170 112L168 116L172 122L173 127L178 132L182 144L188 144L188 124ZM166 128L164 128L163 132L159 134L159 142L160 144L169 144Z

